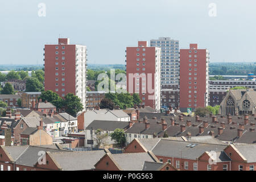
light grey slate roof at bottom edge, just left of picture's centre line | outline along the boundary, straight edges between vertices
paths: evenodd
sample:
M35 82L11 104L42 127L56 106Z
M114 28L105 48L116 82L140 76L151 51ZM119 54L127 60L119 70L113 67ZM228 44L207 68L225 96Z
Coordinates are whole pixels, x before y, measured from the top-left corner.
M112 157L125 171L141 171L145 161L154 162L147 152L112 154Z

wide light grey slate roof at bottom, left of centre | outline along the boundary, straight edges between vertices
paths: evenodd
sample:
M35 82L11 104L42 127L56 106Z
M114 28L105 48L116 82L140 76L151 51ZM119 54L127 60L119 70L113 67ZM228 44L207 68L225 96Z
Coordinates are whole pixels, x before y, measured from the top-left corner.
M64 171L80 171L94 169L94 164L100 160L106 152L97 151L77 151L77 152L55 152L51 156Z

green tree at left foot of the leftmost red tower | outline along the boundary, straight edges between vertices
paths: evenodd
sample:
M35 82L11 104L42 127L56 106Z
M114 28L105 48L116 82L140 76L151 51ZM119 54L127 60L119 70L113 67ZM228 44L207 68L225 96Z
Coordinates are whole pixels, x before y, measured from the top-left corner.
M40 98L43 102L51 102L51 104L55 105L57 109L61 109L63 107L63 99L59 96L59 94L52 92L52 90L42 91L38 99Z

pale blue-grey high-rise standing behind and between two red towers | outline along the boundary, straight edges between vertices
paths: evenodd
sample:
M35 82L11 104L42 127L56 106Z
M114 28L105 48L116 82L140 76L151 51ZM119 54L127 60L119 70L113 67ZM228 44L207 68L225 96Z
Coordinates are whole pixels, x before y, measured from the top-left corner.
M179 40L160 37L150 40L151 47L161 48L161 105L179 105Z

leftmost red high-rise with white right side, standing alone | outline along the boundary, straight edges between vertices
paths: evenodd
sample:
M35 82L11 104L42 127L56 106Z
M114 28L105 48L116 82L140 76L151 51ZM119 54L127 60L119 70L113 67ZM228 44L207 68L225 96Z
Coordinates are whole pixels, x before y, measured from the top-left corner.
M69 44L59 38L58 44L44 46L45 90L64 97L73 93L86 107L86 46Z

